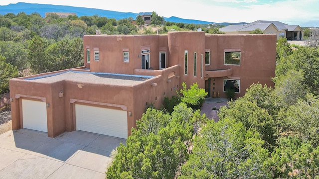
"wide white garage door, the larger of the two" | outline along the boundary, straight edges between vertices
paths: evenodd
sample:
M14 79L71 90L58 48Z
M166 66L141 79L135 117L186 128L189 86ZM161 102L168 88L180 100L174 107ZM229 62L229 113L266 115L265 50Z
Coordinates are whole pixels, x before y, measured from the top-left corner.
M128 137L127 111L75 104L75 119L77 130Z

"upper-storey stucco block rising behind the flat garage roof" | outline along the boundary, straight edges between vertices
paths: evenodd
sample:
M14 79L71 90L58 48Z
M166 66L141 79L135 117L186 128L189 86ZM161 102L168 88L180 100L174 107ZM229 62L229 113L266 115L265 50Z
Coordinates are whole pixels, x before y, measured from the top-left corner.
M91 72L134 74L134 69L159 69L159 52L165 52L168 60L165 35L85 35L83 42L84 65Z

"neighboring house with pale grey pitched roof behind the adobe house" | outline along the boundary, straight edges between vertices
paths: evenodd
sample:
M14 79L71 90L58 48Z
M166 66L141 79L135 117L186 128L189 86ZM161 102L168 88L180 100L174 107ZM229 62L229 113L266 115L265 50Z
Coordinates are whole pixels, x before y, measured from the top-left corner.
M219 30L225 34L249 34L255 29L261 29L265 34L276 34L277 39L285 37L288 40L303 40L303 30L299 25L288 25L279 21L257 20L249 24L228 25Z

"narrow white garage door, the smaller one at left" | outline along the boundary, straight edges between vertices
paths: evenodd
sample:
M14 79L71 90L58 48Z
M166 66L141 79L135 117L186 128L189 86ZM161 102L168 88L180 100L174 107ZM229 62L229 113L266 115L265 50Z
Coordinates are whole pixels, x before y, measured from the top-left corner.
M46 103L22 99L23 128L48 132Z

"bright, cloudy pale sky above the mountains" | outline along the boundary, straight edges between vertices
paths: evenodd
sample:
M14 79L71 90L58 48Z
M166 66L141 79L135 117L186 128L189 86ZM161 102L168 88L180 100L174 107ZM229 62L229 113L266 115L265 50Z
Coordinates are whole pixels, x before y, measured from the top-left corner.
M289 25L319 26L319 0L0 0L71 5L121 12L156 11L160 16L177 16L211 22L277 20Z

